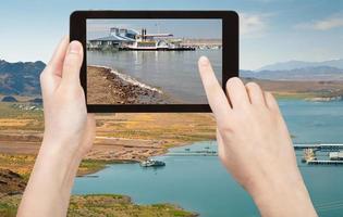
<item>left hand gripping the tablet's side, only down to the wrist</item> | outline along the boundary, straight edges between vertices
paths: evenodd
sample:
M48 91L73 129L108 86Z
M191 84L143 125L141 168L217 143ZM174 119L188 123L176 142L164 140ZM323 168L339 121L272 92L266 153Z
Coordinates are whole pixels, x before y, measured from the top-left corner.
M82 44L78 41L69 44L65 37L40 75L45 115L42 145L77 157L89 151L95 137L94 115L87 114L79 82L82 62Z

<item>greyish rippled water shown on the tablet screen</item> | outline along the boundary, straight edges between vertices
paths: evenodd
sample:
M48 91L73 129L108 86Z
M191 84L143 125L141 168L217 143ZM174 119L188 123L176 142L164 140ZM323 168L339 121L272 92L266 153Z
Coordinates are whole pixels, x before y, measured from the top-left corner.
M196 51L87 51L88 65L102 65L161 89L183 103L206 104L197 62L206 55L221 80L222 50Z

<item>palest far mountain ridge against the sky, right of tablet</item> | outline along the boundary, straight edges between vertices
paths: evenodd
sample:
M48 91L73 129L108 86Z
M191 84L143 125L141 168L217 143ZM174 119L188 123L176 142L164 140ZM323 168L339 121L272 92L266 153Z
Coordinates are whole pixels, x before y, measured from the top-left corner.
M343 69L343 59L323 62L289 61L266 65L257 71L292 71L307 67L328 66Z

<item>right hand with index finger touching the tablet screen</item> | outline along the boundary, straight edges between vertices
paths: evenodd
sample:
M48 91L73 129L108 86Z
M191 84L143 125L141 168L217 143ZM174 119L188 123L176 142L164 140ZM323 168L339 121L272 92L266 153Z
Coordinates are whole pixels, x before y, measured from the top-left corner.
M262 216L316 216L272 94L240 78L228 80L225 94L205 56L199 72L217 120L219 158Z

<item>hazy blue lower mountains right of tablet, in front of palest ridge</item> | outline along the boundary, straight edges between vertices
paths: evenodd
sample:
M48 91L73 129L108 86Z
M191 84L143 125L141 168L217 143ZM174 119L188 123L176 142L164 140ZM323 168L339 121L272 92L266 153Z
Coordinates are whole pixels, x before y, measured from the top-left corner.
M240 76L270 80L343 80L343 69L316 66L282 71L241 71Z

